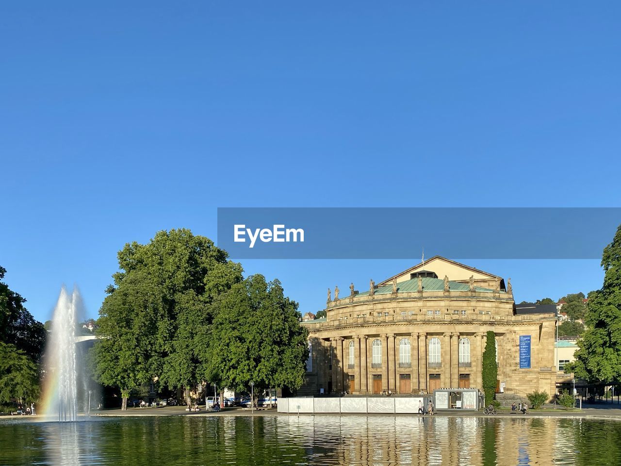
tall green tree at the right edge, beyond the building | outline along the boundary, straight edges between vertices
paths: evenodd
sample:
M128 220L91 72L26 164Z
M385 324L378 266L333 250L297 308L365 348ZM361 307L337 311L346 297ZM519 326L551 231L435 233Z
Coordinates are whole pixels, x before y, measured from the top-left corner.
M589 293L587 330L565 372L588 381L621 380L621 226L602 255L604 284ZM564 306L563 306L564 307Z

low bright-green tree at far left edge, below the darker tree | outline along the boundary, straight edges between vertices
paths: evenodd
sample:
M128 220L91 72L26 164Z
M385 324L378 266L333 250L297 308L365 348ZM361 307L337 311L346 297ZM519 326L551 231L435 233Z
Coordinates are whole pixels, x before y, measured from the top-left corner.
M40 371L37 363L15 345L0 342L0 401L13 398L25 403L40 395Z

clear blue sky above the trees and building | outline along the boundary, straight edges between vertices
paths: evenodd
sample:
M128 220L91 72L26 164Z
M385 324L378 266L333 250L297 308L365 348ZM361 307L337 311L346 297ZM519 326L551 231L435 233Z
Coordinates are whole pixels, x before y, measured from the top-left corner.
M5 281L41 321L76 283L94 317L125 242L217 240L219 206L619 206L620 17L619 2L3 2ZM243 266L306 312L415 262ZM603 276L596 260L465 262L512 277L517 301Z

